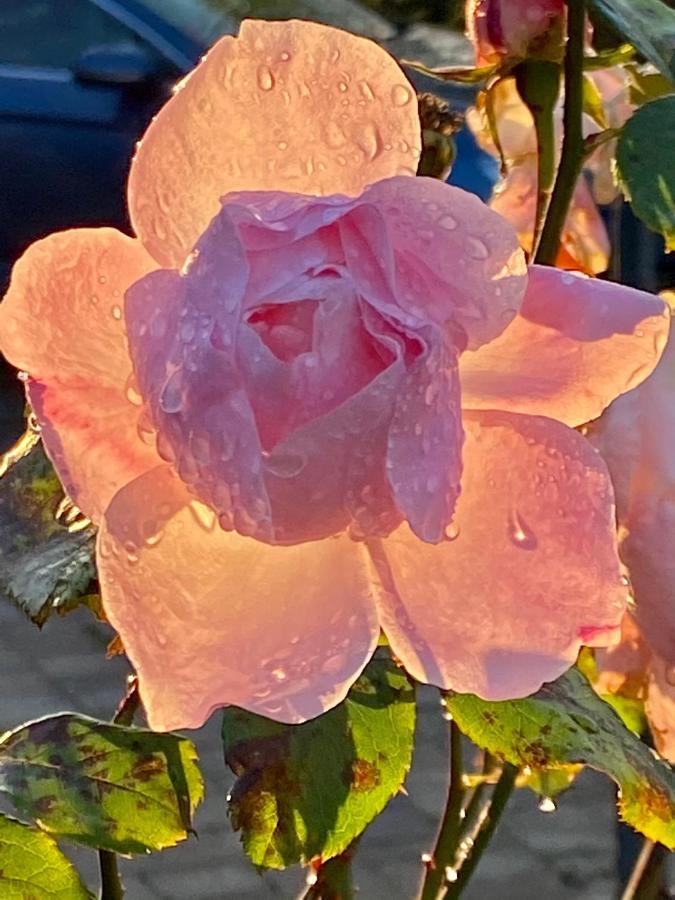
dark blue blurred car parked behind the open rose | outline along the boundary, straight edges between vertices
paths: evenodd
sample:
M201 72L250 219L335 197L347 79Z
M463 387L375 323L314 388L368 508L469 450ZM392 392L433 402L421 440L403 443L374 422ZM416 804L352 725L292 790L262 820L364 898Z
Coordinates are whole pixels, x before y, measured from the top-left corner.
M30 244L127 225L134 144L231 17L207 0L1 0L0 288ZM461 97L460 97L461 103ZM471 138L453 180L489 193Z

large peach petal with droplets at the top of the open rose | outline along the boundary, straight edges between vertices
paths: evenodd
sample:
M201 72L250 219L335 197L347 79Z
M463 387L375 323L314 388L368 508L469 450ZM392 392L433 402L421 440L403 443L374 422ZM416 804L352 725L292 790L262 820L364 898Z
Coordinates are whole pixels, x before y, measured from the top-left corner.
M384 50L313 22L247 20L144 135L131 217L156 259L181 265L228 191L356 195L414 175L419 153L415 92Z

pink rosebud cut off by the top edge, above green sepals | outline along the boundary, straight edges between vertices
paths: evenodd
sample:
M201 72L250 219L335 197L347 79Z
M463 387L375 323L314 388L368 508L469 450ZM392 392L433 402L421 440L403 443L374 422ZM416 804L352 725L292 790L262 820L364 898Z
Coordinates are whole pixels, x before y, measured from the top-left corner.
M564 0L467 0L467 34L477 65L561 58L566 9Z

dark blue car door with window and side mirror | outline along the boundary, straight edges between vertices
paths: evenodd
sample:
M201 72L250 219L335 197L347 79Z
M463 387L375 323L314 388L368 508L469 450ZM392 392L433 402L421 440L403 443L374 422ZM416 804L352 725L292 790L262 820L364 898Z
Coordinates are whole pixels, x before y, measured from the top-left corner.
M112 69L87 68L97 49L110 51ZM115 54L130 50L154 59L166 82L178 77L91 0L0 3L0 290L37 238L72 226L124 227L134 143L166 93L160 79L133 73L118 83Z

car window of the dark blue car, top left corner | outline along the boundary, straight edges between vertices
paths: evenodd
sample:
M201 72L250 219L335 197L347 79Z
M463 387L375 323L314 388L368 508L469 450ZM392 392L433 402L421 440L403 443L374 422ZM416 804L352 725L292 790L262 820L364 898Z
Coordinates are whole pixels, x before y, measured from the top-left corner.
M89 0L0 0L0 65L71 68L85 50L137 43Z

